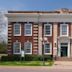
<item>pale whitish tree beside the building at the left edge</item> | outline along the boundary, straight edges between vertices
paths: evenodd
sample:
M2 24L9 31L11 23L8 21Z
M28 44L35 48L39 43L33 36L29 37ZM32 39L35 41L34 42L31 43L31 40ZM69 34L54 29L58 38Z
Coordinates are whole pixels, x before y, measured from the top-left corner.
M5 17L6 12L0 11L0 42L5 41L7 42L7 26L8 20Z

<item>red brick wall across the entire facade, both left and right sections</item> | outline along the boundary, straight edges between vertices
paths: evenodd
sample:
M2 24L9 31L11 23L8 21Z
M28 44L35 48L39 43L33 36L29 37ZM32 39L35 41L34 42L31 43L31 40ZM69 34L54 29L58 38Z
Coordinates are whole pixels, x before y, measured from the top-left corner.
M12 35L9 36L10 30L8 30L8 37L11 37L11 39L8 39L8 44L10 43L9 40L11 40L11 45L8 45L8 54L13 53L13 50L12 50L13 49L13 42L15 42L16 40L21 42L21 47L24 47L24 42L26 42L26 41L32 42L32 53L38 54L38 48L34 48L34 42L33 42L34 36L33 36L33 34L32 34L32 36L24 36L24 24L26 22L19 22L19 23L21 23L21 36L13 36L13 25L14 25L14 23L15 22L9 23L9 25L12 25L12 28L11 28ZM31 23L32 23L32 26L36 24L36 23L33 23L33 22L31 22ZM42 37L44 37L44 24L45 23L42 23ZM48 38L48 42L52 43L52 53L53 53L53 23L50 23L50 24L52 24L52 36L46 36L46 37ZM60 36L60 24L61 23L58 23L58 28L57 28L58 29L58 33L57 33L58 36ZM71 36L71 23L67 23L67 24L69 24L69 36ZM8 28L10 28L10 27L8 27ZM33 31L34 30L32 28L32 33L33 33ZM35 53L35 50L36 50L36 53Z

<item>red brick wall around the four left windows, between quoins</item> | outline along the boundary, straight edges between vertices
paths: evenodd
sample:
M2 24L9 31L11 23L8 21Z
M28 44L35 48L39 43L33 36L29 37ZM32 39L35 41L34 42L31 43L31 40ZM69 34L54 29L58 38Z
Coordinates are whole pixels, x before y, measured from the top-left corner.
M15 42L16 40L18 40L19 42L21 42L21 47L24 47L24 42L27 42L27 41L30 41L30 42L32 42L32 53L33 54L35 54L34 53L34 43L33 43L33 28L32 28L32 36L24 36L24 24L26 23L26 22L19 22L20 24L21 24L21 36L14 36L13 35L13 25L14 25L14 23L15 22L12 22L12 23L10 23L11 25L12 25L12 36L10 36L11 37L11 48L10 48L10 50L11 50L11 54L13 53L13 42ZM33 27L33 25L34 25L34 23L33 22L31 22L32 23L32 27ZM37 36L38 37L38 36ZM8 50L9 50L9 46L8 46ZM36 54L38 53L38 48L37 48L37 52L36 52Z

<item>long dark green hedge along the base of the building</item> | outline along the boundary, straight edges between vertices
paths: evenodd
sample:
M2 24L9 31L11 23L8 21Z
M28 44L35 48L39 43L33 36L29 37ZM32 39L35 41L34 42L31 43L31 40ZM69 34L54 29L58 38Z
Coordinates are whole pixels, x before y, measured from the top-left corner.
M45 61L52 60L51 55L25 55L24 58L21 58L20 55L9 55L9 56L2 56L1 61L20 61L20 59L25 61Z

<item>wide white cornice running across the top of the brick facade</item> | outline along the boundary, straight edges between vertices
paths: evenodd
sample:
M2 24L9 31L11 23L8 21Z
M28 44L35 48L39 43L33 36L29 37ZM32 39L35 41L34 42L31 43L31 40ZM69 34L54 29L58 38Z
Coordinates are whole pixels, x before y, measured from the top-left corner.
M72 22L72 14L8 13L9 22Z

